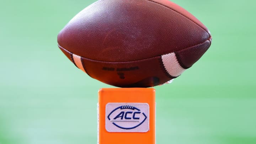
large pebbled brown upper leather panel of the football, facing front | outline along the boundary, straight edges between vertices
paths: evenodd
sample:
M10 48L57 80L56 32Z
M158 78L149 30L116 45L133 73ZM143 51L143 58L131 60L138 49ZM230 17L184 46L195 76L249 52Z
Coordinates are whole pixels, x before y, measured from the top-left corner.
M208 38L205 30L169 7L148 0L104 0L75 16L59 33L58 43L81 57L127 62L175 52Z

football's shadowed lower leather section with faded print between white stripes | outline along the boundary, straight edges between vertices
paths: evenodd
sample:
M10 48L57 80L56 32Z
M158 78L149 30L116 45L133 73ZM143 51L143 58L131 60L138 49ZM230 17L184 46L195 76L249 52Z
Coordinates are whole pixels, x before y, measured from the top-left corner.
M160 56L133 62L81 60L92 78L117 87L153 87L175 78L166 73Z

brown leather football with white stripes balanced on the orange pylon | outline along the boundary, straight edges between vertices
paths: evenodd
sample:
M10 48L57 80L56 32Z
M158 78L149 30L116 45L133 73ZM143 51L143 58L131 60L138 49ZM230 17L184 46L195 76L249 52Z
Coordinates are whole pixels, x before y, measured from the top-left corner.
M177 78L211 41L206 26L168 0L99 0L58 35L59 48L79 69L117 87Z

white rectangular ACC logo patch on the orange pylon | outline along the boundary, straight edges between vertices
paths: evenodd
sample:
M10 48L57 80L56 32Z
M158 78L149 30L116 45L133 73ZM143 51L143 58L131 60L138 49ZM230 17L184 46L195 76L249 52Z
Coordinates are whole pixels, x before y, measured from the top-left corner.
M106 129L108 132L147 132L149 105L147 103L108 103Z

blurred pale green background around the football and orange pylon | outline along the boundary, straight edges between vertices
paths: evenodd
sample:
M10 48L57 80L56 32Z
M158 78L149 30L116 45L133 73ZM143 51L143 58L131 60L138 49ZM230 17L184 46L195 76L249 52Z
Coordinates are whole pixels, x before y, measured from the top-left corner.
M173 0L213 43L172 84L157 86L158 144L256 144L255 0ZM57 34L94 0L0 4L0 144L95 144L97 91Z

